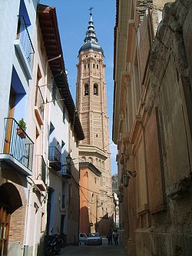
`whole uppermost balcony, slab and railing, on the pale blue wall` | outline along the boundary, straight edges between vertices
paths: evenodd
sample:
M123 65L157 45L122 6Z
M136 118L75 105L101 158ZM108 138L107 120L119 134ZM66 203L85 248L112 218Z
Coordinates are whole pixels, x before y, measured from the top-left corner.
M15 49L22 61L22 65L28 79L31 79L31 68L35 51L28 33L25 19L22 15L18 15L18 31L15 39Z

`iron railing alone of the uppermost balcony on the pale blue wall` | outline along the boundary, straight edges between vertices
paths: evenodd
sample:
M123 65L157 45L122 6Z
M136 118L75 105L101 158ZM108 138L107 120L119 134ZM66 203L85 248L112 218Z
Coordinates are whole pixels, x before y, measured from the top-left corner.
M28 27L25 23L25 18L22 15L18 15L17 39L19 39L19 43L22 45L25 58L27 59L29 67L31 68L35 50L28 33Z

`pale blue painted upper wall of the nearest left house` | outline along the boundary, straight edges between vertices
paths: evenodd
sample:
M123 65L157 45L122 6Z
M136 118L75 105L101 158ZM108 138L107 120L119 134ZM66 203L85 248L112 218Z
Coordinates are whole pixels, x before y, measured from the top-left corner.
M34 35L36 33L35 30L35 18L36 18L36 10L34 6L37 1L27 1L25 0L25 5L28 10L28 16L31 21L31 26L29 29L29 33L31 36L31 41L34 43ZM35 5L34 5L35 3ZM18 77L20 78L23 87L25 88L26 95L22 100L18 103L15 108L15 119L18 121L20 118L24 118L26 122L28 122L28 100L30 96L28 95L29 85L32 84L30 80L25 77L23 73L20 62L18 62L18 57L15 54L15 36L17 31L18 24L18 12L19 12L19 0L6 1L3 0L1 2L0 11L0 27L2 32L1 42L0 42L0 149L2 150L2 136L4 131L4 118L8 116L8 99L9 92L11 87L11 79L12 79L12 65L15 66L15 70L18 73ZM11 19L10 19L11 17ZM28 114L27 114L28 113ZM28 125L27 125L28 128Z

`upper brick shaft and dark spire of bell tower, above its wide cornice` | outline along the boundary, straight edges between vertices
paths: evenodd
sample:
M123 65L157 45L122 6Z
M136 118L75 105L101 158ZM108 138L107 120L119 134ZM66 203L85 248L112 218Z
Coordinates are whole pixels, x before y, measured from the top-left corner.
M84 128L84 145L94 145L108 151L108 116L106 83L104 79L104 52L98 44L92 19L84 45L79 50L76 104Z

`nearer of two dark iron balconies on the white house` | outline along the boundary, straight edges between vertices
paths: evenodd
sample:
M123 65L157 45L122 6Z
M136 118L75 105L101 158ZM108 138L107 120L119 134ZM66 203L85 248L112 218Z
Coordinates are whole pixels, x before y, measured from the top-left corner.
M55 171L61 170L61 152L54 146L48 147L49 167Z

